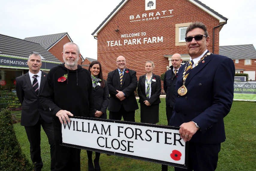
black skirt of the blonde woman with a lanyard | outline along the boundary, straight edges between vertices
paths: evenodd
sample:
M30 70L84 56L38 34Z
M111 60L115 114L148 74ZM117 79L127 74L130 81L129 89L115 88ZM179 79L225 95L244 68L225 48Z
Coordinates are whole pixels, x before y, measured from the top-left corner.
M140 122L148 124L156 124L159 122L159 104L146 106L140 103Z

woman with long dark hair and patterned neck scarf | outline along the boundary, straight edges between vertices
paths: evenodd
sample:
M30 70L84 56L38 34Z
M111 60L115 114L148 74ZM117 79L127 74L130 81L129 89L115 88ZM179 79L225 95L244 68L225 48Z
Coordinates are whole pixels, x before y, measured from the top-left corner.
M107 106L109 103L109 93L107 83L103 80L102 67L99 61L93 61L89 66L89 72L93 81L93 98L94 98L94 110L95 118L107 119ZM87 150L88 156L88 170L100 171L99 157L100 152L95 152L94 167L92 160L92 151Z

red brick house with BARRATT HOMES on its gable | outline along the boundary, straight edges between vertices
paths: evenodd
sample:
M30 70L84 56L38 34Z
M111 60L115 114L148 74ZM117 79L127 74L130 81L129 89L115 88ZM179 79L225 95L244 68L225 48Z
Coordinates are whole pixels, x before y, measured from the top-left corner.
M92 33L97 38L98 61L103 76L116 69L116 58L122 55L127 67L145 74L144 64L153 61L157 75L165 73L171 65L171 56L180 53L188 61L185 32L191 22L201 21L208 29L210 45L208 50L219 53L219 31L227 18L198 0L122 0L120 4ZM213 27L214 46L213 46Z

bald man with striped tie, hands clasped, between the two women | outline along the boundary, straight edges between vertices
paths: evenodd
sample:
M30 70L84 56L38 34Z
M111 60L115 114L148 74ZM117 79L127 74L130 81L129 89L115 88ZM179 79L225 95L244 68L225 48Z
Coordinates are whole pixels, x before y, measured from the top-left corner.
M135 110L139 109L134 91L138 80L136 71L126 68L125 57L116 59L117 69L107 75L107 86L110 94L108 104L109 119L135 122Z

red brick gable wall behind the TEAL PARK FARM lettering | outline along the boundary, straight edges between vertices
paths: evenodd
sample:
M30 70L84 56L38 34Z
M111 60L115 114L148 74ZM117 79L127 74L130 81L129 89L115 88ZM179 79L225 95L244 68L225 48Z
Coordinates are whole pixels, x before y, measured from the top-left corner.
M166 10L166 13L173 17L160 18L163 16L161 11ZM168 10L173 10L172 14ZM130 22L130 16L134 19L137 14L142 19L142 14L160 12L159 19L148 21ZM164 15L168 16L168 15ZM145 17L144 17L145 18ZM149 18L149 17L147 17ZM155 69L153 72L161 75L166 71L166 66L169 66L168 58L164 55L172 55L174 53L187 54L186 46L175 46L175 24L201 21L208 29L210 36L210 44L208 50L212 52L212 37L213 27L219 25L219 21L210 16L199 7L193 5L186 0L162 0L157 1L155 10L145 11L145 1L130 0L122 9L106 24L106 26L98 33L98 61L101 62L103 68L103 77L107 78L107 73L116 69L116 58L120 55L124 56L127 61L127 68L136 70L137 76L145 74L144 64L146 61L153 61ZM119 32L115 32L119 26ZM122 34L146 32L146 36L137 36L141 38L142 44L124 45ZM143 44L145 37L161 37L163 42ZM122 46L109 46L107 41L120 40ZM215 45L214 53L219 53L219 28L215 29Z

